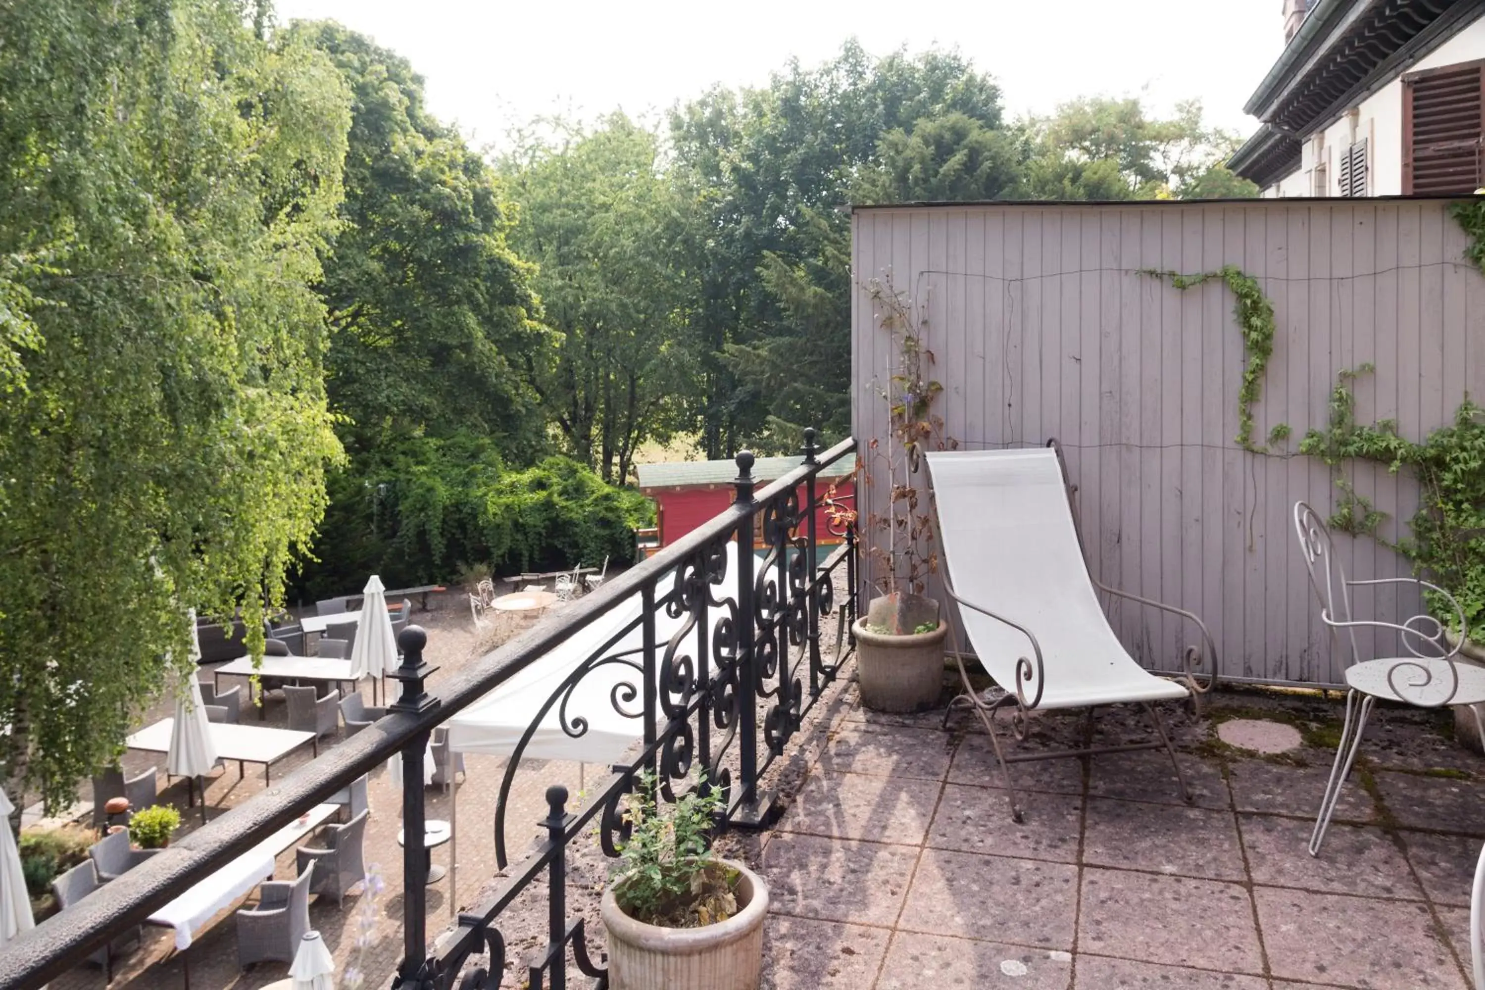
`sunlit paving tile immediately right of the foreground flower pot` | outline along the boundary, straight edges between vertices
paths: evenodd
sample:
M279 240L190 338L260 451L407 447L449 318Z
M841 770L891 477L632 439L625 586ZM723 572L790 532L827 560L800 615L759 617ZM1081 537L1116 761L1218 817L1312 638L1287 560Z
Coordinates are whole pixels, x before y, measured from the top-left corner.
M916 861L910 846L774 836L759 873L774 913L887 926L897 922Z

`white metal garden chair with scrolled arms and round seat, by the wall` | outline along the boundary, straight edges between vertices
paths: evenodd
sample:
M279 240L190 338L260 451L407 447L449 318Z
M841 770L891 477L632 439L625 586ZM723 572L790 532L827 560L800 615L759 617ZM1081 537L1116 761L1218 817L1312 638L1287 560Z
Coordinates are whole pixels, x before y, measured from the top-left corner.
M1341 797L1341 787L1351 773L1356 753L1362 747L1366 718L1378 698L1417 705L1418 708L1443 708L1445 705L1470 705L1476 726L1481 712L1475 705L1485 702L1485 668L1455 660L1463 640L1454 649L1445 649L1443 623L1430 614L1414 616L1403 623L1357 619L1351 612L1351 589L1377 585L1414 585L1443 598L1458 616L1458 628L1466 629L1464 610L1454 595L1437 585L1417 577L1380 577L1377 580L1347 580L1345 568L1334 552L1331 530L1314 509L1304 502L1295 503L1295 533L1299 549L1310 571L1310 586L1320 600L1320 620L1331 629L1332 656L1345 658L1345 724L1341 727L1341 744L1335 750L1331 766L1331 781L1320 800L1320 813L1310 836L1310 855L1320 855L1320 843L1331 827L1331 816ZM1411 656L1391 656L1362 660L1356 644L1357 629L1388 629L1396 632ZM1430 649L1423 653L1420 649Z

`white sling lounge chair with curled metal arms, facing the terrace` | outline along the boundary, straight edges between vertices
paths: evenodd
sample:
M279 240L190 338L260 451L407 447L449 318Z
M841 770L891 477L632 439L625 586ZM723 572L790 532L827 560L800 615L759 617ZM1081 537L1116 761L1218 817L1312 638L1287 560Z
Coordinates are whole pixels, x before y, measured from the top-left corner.
M1189 801L1181 761L1152 702L1194 699L1216 683L1216 646L1201 620L1108 588L1089 574L1072 512L1077 488L1066 482L1056 441L1042 448L930 453L928 471L947 567L944 588L959 603L970 647L1005 692L977 692L964 653L955 649L964 690L944 712L944 724L956 708L971 708L985 723L1011 816L1022 821L1008 763L1096 753L1166 750L1181 796ZM1096 589L1189 619L1206 653L1187 649L1179 681L1155 677L1114 635ZM1206 684L1197 683L1195 666L1209 671ZM1013 730L1025 738L1029 711L1089 708L1091 718L1093 708L1114 704L1143 705L1160 741L1005 755L995 735L993 717L1001 708L1014 708Z

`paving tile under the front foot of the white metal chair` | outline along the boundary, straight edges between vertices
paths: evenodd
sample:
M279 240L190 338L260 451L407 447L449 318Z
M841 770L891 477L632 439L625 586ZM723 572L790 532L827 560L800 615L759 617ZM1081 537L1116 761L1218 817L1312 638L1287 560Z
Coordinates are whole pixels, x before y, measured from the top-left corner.
M1310 855L1311 822L1238 815L1255 883L1423 899L1423 888L1387 833L1331 822L1319 856Z

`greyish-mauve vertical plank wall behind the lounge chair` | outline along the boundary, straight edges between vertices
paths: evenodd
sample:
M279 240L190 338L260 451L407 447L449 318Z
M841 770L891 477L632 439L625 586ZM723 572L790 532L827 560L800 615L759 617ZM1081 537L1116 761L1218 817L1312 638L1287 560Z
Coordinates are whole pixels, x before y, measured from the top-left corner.
M949 436L964 448L1065 445L1094 573L1201 614L1225 677L1336 684L1341 658L1292 524L1295 500L1328 515L1336 490L1325 465L1293 451L1325 426L1342 368L1375 364L1356 381L1357 419L1394 419L1414 439L1485 390L1485 279L1464 245L1446 203L1423 200L858 209L855 436L866 451L887 430L881 395L897 358L867 285L890 279L928 319ZM1274 303L1274 355L1253 407L1256 441L1277 423L1293 430L1274 453L1234 442L1244 356L1231 292L1219 282L1182 292L1140 273L1224 264L1256 276ZM863 487L863 522L882 505L882 473ZM1406 536L1411 481L1365 465L1347 476L1388 514L1380 536ZM1354 577L1409 573L1377 540L1336 540ZM1383 616L1415 604L1375 601ZM1136 659L1176 666L1189 640L1178 623L1111 609ZM1397 649L1381 635L1362 646Z

